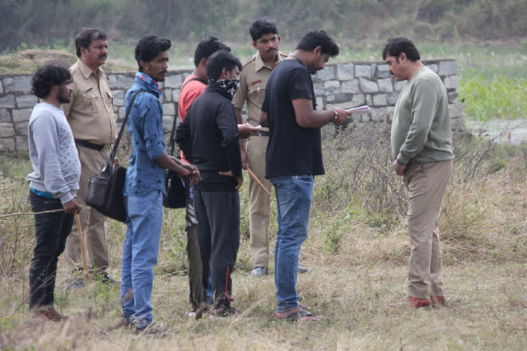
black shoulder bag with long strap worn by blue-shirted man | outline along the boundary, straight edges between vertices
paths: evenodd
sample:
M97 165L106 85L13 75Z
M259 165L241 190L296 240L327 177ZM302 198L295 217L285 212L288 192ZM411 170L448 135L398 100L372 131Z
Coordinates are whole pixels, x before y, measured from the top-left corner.
M128 121L128 114L132 110L134 100L140 93L146 92L147 90L138 90L132 99L126 114L124 121L119 130L117 140L113 145L113 150L108 157L108 163L104 165L99 173L93 175L88 183L88 189L86 189L86 197L84 201L88 206L95 208L106 217L110 217L120 222L126 221L126 208L124 206L124 195L123 187L126 180L126 168L122 166L114 167L113 160L115 159L115 152L119 147L121 136L123 135L124 128L126 128L126 121Z

